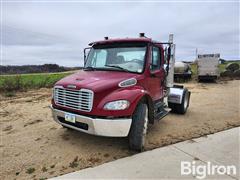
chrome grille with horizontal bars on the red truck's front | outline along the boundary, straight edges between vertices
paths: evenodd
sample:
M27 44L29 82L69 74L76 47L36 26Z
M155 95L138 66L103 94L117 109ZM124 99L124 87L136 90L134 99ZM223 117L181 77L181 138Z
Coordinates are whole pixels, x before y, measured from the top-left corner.
M89 89L54 88L54 101L57 105L90 112L93 106L93 91Z

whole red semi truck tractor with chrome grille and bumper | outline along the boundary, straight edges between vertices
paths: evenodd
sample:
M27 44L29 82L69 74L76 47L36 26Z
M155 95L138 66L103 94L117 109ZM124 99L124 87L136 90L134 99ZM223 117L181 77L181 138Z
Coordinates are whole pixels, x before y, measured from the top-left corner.
M141 151L149 123L189 106L190 92L173 84L174 61L173 35L167 42L144 33L92 42L83 70L55 84L53 118L85 133L128 137L129 148Z

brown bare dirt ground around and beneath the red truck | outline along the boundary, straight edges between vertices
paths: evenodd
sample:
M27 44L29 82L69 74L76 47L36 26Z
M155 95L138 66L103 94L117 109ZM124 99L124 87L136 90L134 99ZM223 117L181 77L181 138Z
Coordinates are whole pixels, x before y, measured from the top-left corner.
M240 80L185 86L192 92L188 112L150 127L146 150L240 126ZM134 154L127 138L62 128L51 117L50 99L50 89L1 96L0 179L44 179Z

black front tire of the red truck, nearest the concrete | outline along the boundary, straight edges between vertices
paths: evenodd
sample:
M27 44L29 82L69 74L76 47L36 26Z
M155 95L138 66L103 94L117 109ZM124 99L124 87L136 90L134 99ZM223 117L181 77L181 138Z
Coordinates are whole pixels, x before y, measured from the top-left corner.
M132 117L132 125L129 132L129 148L135 151L143 151L148 127L148 106L140 103Z

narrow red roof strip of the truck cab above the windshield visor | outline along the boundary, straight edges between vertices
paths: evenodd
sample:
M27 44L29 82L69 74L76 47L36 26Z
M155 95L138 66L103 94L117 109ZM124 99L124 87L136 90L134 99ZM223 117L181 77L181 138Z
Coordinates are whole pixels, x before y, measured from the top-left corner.
M108 44L108 43L117 43L117 42L153 42L151 38L118 38L118 39L107 39L102 41L95 41L89 43L89 46L96 44Z

